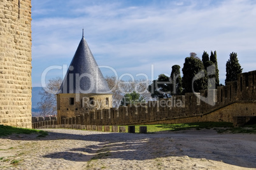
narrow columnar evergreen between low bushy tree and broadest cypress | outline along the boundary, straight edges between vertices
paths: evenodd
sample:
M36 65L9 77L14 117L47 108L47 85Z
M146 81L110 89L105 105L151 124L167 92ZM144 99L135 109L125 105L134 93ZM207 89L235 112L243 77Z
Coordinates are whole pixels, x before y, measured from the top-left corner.
M183 95L182 79L180 77L180 65L173 65L171 69L171 95Z

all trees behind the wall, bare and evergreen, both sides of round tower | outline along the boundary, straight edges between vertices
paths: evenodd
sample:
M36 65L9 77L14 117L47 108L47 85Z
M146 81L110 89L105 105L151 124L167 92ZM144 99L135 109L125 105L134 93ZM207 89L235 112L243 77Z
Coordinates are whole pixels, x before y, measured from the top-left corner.
M210 56L204 51L202 59L197 57L196 53L190 53L190 56L185 58L182 69L180 65L173 65L171 69L170 77L160 74L151 84L144 79L122 81L115 76L105 77L113 93L113 107L145 102L152 100L152 98L155 98L154 100L171 98L171 96L175 95L184 95L193 91L199 92L201 89L222 86L219 81L216 51L211 51ZM181 77L180 69L183 77ZM237 75L242 71L237 53L230 53L229 60L226 63L225 84L229 81L236 81ZM41 115L54 115L57 113L57 96L55 93L60 88L61 83L62 79L60 77L51 79L46 84L46 88L50 93L47 91L39 93L41 101L38 103L38 108L41 110Z

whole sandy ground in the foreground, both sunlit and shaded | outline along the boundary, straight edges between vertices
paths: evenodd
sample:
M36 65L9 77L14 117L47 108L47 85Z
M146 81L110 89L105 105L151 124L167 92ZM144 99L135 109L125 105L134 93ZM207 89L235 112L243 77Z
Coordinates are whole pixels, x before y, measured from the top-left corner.
M44 130L1 137L0 169L256 169L256 134Z

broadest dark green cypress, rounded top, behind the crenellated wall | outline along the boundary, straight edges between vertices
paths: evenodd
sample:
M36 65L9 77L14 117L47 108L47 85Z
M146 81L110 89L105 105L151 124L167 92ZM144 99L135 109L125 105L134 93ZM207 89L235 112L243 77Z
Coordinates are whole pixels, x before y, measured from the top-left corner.
M194 77L202 70L206 75L203 62L196 55L191 55L190 53L190 57L185 58L185 63L182 69L182 72L183 72L182 84L183 84L183 91L185 93L192 93L193 85L194 85L194 91L196 92L199 92L200 89L207 88L207 77L205 76L201 79L198 78L196 81L194 81L194 84L192 84L192 80L194 79Z

